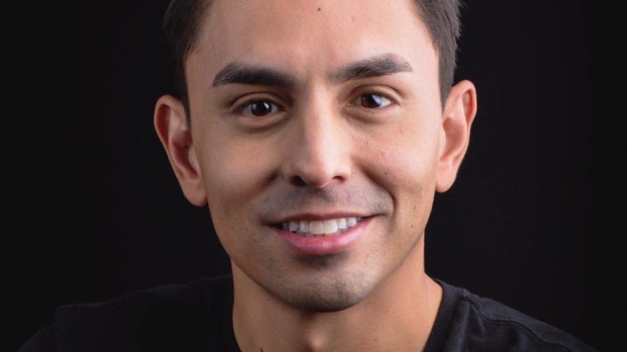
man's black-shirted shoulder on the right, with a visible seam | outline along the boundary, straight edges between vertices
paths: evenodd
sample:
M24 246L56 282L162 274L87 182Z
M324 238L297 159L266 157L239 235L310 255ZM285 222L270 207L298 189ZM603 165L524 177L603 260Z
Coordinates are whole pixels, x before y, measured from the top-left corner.
M447 342L456 345L458 351L595 351L555 326L491 298L437 281L452 305Z

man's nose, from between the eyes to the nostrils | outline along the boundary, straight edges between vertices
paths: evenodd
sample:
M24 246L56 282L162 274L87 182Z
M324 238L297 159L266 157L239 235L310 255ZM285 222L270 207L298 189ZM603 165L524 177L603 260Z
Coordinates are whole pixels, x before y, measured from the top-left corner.
M309 99L309 102L314 99ZM307 104L292 116L284 177L294 186L322 189L351 174L350 130L338 111L324 102Z

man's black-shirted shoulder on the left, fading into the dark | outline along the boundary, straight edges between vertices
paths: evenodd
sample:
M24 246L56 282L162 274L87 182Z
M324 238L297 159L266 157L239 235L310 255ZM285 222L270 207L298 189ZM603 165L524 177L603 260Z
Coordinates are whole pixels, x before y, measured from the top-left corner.
M225 275L63 305L20 351L192 351L211 343L208 331L223 328L232 299L232 277Z

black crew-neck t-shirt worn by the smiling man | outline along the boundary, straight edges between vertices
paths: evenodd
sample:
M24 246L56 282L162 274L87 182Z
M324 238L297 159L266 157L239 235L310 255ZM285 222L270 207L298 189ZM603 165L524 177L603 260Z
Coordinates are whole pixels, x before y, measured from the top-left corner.
M501 303L435 280L443 296L426 352L596 351ZM19 352L240 351L232 308L231 275L65 305Z

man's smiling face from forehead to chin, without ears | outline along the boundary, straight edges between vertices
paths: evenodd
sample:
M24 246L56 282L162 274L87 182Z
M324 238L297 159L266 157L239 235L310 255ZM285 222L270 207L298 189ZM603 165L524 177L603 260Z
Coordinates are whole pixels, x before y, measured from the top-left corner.
M263 289L341 310L419 250L442 112L411 0L213 1L187 83L215 230Z

